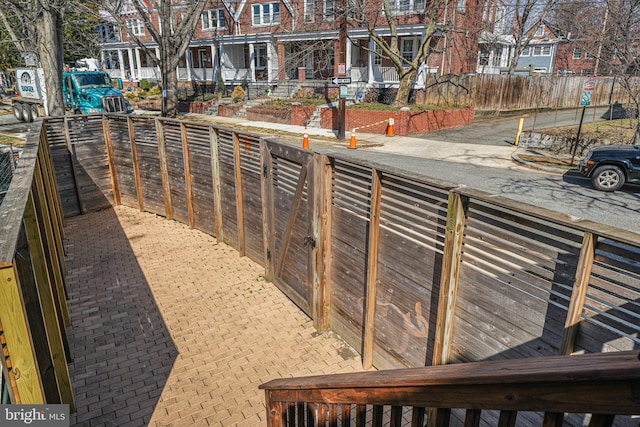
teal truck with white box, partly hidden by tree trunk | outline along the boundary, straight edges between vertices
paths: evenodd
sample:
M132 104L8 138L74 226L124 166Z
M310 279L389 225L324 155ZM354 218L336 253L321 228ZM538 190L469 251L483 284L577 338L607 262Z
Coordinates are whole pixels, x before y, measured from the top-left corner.
M16 69L15 87L17 96L11 103L17 120L32 122L35 117L49 115L42 68ZM63 72L62 93L65 109L72 114L133 112L131 104L113 86L111 77L104 71L70 69Z

